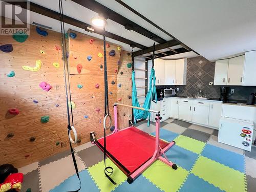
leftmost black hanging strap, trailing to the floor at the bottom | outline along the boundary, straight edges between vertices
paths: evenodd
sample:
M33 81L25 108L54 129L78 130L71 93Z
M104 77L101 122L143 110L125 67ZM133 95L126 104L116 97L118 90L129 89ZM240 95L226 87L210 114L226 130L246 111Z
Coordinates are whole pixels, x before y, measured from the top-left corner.
M65 37L65 26L64 26L64 20L63 20L62 0L59 0L59 17L60 17L60 27L61 27L63 67L64 67L64 78L65 78L65 89L66 89L66 101L67 101L69 145L70 145L70 150L71 150L71 155L72 155L74 167L75 167L75 170L76 170L76 175L77 175L77 177L79 179L79 182L80 182L80 186L77 190L72 190L72 191L68 191L68 192L77 192L81 189L81 180L80 180L80 177L79 177L79 172L78 172L78 167L77 167L77 163L76 163L75 153L74 153L71 141L70 141L70 130L71 130L70 112L71 112L71 119L72 119L72 125L73 126L74 126L74 119L73 119L72 108L69 109L69 100L71 101L71 91L70 91L69 68L68 68L68 59L67 59L67 45L66 45L66 37ZM66 76L66 65L67 65L67 72L68 72L67 76ZM67 83L67 78L68 78L68 83ZM68 94L68 92L69 92L69 94Z

